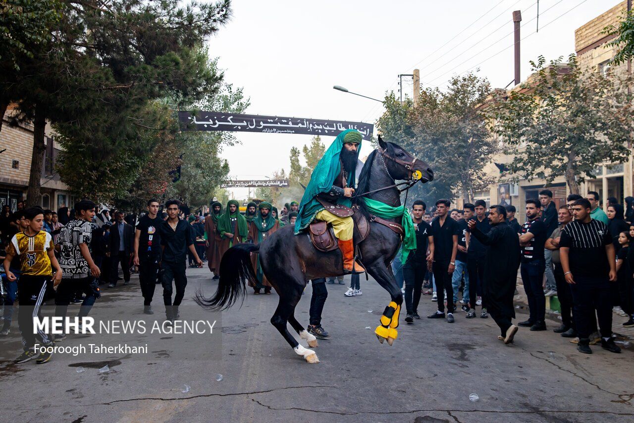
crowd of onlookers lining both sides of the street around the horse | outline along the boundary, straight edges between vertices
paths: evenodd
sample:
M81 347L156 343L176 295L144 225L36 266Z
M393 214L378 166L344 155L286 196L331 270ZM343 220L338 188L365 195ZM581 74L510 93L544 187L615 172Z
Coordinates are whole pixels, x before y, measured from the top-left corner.
M482 200L451 209L446 199L427 210L424 201L413 201L411 217L417 248L401 262L392 261L392 272L404 295L406 316L413 324L420 319L418 305L431 295L437 311L427 318L456 321L456 309L465 318L489 315L500 326L498 336L512 342L517 326L532 331L547 330L545 298L557 296L562 324L553 332L576 342L581 352L600 342L612 352L620 349L612 337L612 314L627 318L634 326L634 238L633 198L627 208L609 199L604 212L598 194L586 198L571 194L566 205L555 207L552 192L540 191L538 199L526 200L526 222L520 225L514 206L487 207ZM33 316L54 299L55 315L65 318L68 305L80 304L77 314L87 316L100 298L102 285L115 288L120 279L127 285L138 272L143 312L153 314L155 286L161 284L165 319L180 316L179 305L187 285L186 266L206 262L220 276L226 251L238 243L259 244L285 225L295 225L299 203L286 203L281 213L267 201L251 202L244 214L238 201L210 205L209 213L189 212L178 200L147 202L140 216L103 209L87 200L72 210L42 210L39 207L11 212L4 206L0 216L0 241L4 273L2 279L3 326L8 335L13 306L18 300L18 328L23 353L16 363L37 358L46 363L50 354L37 353L34 345L61 342L65 334L51 337L33 333ZM224 209L224 210L223 210ZM290 233L290 232L289 232ZM262 272L257 255L252 258L257 280L249 285L255 295L271 294L271 283ZM119 277L119 267L123 278ZM529 317L514 325L514 295L521 274ZM326 339L321 312L328 283L343 278L314 279L307 330ZM105 286L104 286L105 287ZM175 294L174 294L175 291ZM359 275L353 274L347 297L362 295Z

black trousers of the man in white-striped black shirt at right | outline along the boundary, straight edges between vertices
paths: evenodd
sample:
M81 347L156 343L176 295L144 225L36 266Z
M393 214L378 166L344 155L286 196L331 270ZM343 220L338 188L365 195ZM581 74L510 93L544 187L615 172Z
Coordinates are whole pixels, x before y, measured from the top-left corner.
M597 311L598 327L604 338L612 336L612 294L607 278L574 275L571 285L574 300L574 321L579 339L587 339L593 332L593 320Z

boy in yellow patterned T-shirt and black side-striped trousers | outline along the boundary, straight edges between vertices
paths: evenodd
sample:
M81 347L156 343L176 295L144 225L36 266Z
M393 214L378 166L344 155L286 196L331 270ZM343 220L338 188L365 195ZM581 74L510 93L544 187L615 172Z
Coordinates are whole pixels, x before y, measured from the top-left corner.
M48 232L42 231L44 211L39 207L27 208L24 218L28 226L11 238L4 258L4 269L10 269L13 257L20 257L22 271L18 281L18 328L22 334L24 352L15 359L15 363L37 358L37 363L42 364L51 359L51 353L36 352L35 344L38 339L44 346L52 345L52 341L42 330L34 333L33 318L42 318L42 302L53 296L53 287L61 281L61 269L55 258L53 238ZM55 267L55 277L52 267ZM10 281L17 279L10 270L6 271L6 276Z

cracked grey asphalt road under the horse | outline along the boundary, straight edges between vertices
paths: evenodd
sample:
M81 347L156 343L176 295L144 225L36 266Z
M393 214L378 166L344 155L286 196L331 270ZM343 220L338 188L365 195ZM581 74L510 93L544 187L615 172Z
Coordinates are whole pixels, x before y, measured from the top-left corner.
M191 297L197 286L215 291L207 269L188 269L190 285L181 318L205 318ZM348 278L346 278L347 281ZM2 420L73 422L631 422L634 421L633 352L612 354L593 347L591 356L548 330L521 328L515 344L496 339L491 318L453 325L401 320L390 347L379 344L373 328L387 293L361 281L363 296L347 298L342 285L328 285L323 326L332 339L320 340L321 359L310 365L295 355L269 318L277 295L249 295L242 309L222 314L223 333L160 347L149 339L141 359L112 356L112 369L91 356L61 358L36 365L0 364ZM99 318L143 319L138 279L105 290L93 309ZM307 324L311 287L297 307ZM435 307L423 297L420 314ZM160 290L154 308L162 313ZM75 306L76 307L76 306ZM76 309L74 309L76 310ZM403 317L403 316L402 316ZM519 314L519 318L525 315ZM219 323L220 325L220 323ZM555 327L549 321L549 329ZM372 330L366 329L370 326ZM16 327L0 345L19 353ZM98 335L90 337L95 342ZM85 339L86 337L84 337ZM165 343L169 337L164 337ZM221 359L178 359L203 354L222 339ZM64 345L82 337L71 335ZM159 346L157 346L159 345ZM168 345L168 344L165 344ZM305 344L304 344L305 345ZM6 352L6 350L5 350ZM82 365L86 372L77 373ZM224 377L216 381L217 374ZM191 387L181 393L181 387ZM475 393L479 401L469 401Z

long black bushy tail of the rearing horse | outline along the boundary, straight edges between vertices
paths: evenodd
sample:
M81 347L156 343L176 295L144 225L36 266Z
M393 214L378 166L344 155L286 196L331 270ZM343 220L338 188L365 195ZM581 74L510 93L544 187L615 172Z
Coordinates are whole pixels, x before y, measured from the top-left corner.
M209 311L228 309L238 299L244 301L247 281L257 283L256 272L251 265L251 254L257 253L259 245L238 244L227 250L220 260L220 279L213 297L207 298L198 288L194 296L196 304Z

